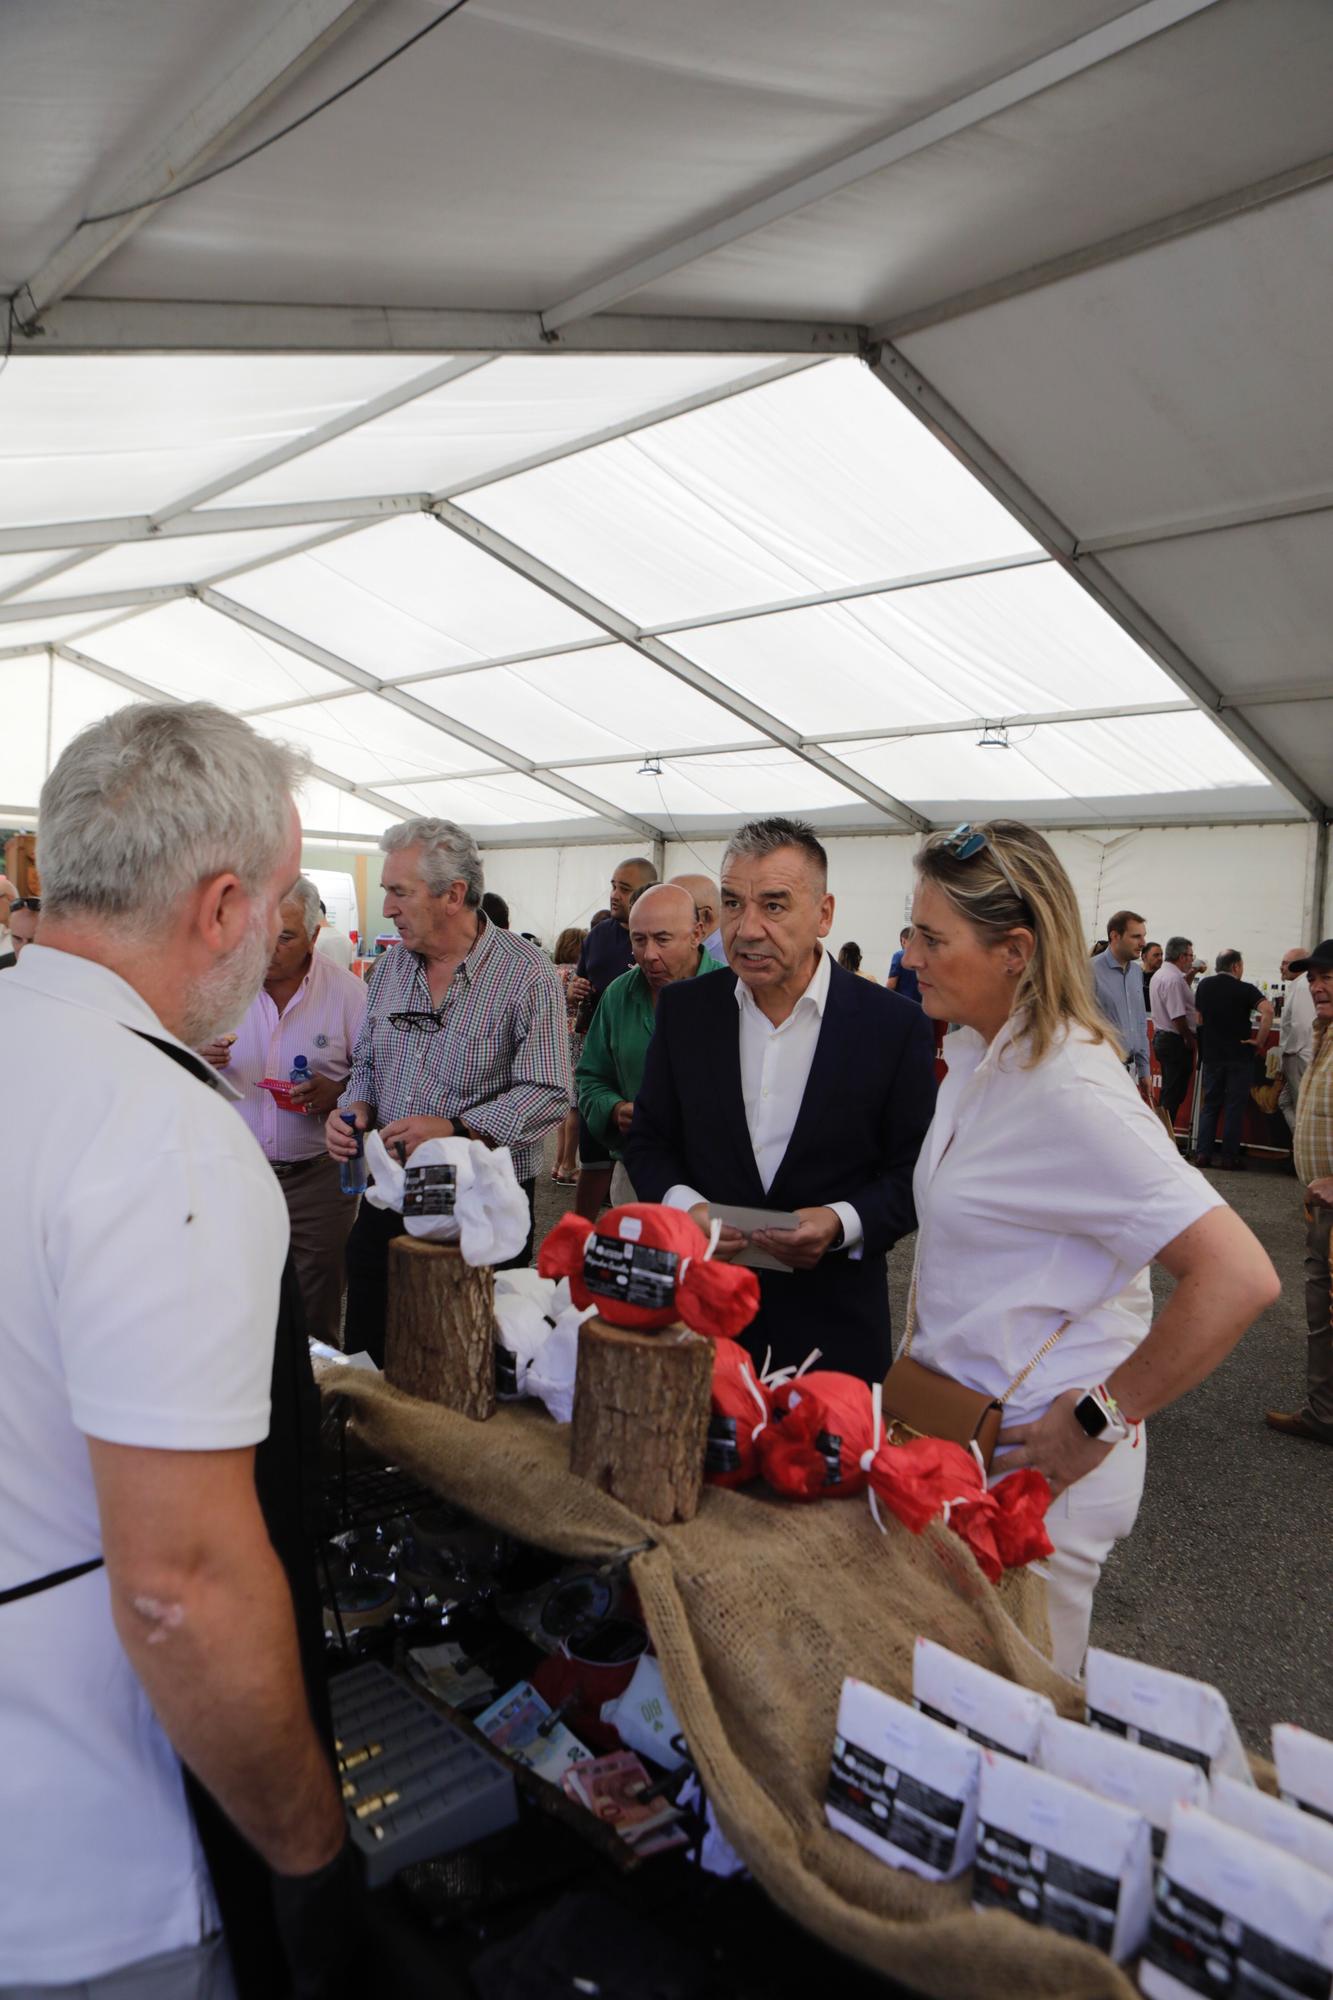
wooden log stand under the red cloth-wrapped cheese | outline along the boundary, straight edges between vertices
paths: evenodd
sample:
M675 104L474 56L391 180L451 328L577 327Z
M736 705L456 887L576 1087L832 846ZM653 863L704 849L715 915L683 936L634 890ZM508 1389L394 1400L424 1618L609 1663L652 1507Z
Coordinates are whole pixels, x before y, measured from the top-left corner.
M713 1342L685 1326L578 1328L570 1472L646 1520L693 1520L703 1490Z

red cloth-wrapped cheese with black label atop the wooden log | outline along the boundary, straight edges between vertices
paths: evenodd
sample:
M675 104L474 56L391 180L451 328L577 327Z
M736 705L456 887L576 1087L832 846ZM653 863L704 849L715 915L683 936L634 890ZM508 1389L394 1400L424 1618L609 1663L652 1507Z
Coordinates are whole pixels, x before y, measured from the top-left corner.
M654 1334L685 1320L697 1334L735 1338L759 1312L759 1278L713 1264L709 1238L681 1208L626 1202L596 1224L560 1216L536 1256L542 1278L568 1278L574 1304L610 1326Z

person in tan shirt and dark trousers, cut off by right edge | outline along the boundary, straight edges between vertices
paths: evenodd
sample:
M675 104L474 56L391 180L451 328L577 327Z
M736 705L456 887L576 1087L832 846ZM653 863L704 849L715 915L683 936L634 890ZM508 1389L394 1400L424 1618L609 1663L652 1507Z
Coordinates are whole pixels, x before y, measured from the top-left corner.
M1307 958L1283 958L1283 976L1309 974L1315 1004L1315 1054L1301 1080L1291 1148L1305 1188L1305 1402L1269 1410L1267 1424L1287 1438L1333 1444L1333 938ZM1287 988L1291 998L1291 988Z

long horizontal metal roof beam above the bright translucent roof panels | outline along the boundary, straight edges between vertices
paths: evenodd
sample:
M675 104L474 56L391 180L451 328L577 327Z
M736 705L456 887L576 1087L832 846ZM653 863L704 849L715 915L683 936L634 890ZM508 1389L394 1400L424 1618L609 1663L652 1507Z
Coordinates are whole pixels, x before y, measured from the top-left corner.
M18 328L18 354L859 354L847 320L608 312L542 326L538 312L432 306L264 306L192 298L66 298Z

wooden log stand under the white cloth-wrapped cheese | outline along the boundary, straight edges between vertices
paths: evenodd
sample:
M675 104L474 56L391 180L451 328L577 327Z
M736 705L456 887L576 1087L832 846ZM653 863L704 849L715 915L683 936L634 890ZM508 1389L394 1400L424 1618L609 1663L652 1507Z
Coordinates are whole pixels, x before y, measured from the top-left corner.
M476 1422L494 1416L494 1272L454 1244L388 1246L384 1376Z

